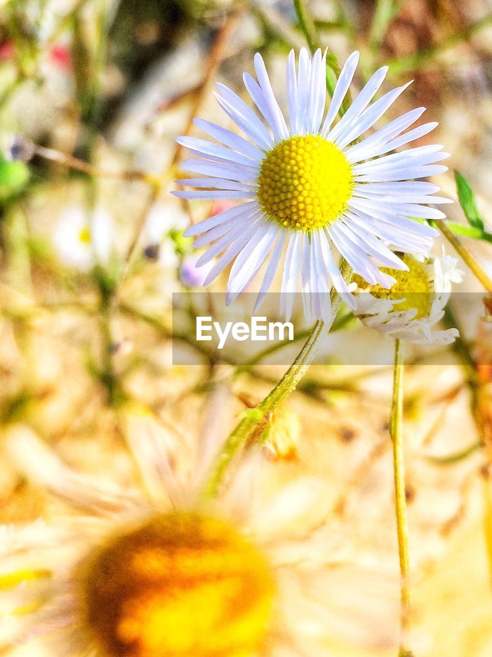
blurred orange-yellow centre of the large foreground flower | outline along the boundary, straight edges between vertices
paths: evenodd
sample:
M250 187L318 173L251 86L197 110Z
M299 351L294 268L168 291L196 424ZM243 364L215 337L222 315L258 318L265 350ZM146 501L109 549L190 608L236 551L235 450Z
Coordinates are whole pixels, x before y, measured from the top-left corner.
M155 516L99 550L83 576L86 621L111 657L248 657L274 585L256 547L196 512Z

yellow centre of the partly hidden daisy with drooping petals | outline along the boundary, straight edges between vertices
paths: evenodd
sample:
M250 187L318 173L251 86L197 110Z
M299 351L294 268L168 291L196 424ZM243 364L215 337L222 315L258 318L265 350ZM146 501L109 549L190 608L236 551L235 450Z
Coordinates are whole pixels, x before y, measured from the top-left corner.
M409 254L402 256L401 260L409 266L409 271L381 267L381 271L396 279L396 283L391 290L386 290L381 285L368 285L366 281L357 275L353 277L353 280L360 288L370 292L372 296L376 296L378 299L405 299L405 301L394 307L395 311L416 308L415 319L428 317L432 306L433 290L426 267Z

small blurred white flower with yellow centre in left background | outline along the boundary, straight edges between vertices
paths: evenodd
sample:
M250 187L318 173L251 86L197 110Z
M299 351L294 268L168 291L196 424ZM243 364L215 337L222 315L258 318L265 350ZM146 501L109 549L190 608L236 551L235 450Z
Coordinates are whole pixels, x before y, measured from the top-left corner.
M56 252L68 267L88 271L107 265L113 250L112 217L101 207L87 214L81 207L64 208L53 235Z

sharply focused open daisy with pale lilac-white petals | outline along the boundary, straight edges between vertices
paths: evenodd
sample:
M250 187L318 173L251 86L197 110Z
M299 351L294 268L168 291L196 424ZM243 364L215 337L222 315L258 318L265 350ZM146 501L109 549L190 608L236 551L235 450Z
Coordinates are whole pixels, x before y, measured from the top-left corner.
M196 187L196 191L178 191L176 196L246 201L204 219L185 233L200 235L196 246L212 244L200 263L222 254L206 284L234 260L227 284L228 303L246 289L270 256L258 297L261 302L273 282L284 247L282 292L296 292L300 277L303 292L310 293L311 311L321 319L329 319L331 314L326 293L332 284L353 306L334 260L333 247L365 281L385 287L390 286L390 280L380 265L407 269L387 242L404 253L430 252L436 229L409 217L442 219L442 212L426 204L451 201L432 196L439 191L437 185L414 179L446 171L436 162L449 154L441 152L439 145L390 154L436 127L433 122L405 132L420 118L423 107L406 112L357 141L409 84L371 103L388 72L387 66L374 73L336 121L358 61L357 52L347 59L325 114L326 53L322 55L318 50L311 59L302 49L296 74L292 51L287 64L287 122L263 59L257 54L257 81L248 73L243 79L265 122L236 93L219 83L216 96L220 106L248 139L201 119L195 120L196 125L223 145L196 137L177 139L200 159L183 162L183 168L199 177L177 181ZM293 296L282 295L287 316Z

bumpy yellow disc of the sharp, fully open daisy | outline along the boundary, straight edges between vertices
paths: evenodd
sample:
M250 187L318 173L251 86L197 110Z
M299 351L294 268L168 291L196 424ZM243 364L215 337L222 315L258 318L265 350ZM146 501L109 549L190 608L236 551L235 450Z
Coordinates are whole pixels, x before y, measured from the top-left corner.
M282 226L312 231L334 221L352 193L346 157L323 137L281 141L267 153L258 177L261 208Z

